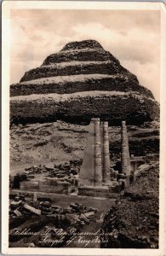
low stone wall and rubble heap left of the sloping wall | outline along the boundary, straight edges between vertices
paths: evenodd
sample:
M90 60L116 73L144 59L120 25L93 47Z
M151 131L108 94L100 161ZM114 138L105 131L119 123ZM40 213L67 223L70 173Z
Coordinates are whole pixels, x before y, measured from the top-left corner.
M45 191L44 189L48 189L49 186L49 192L72 193L77 190L81 164L82 160L78 159L60 165L49 163L29 166L25 168L25 172L17 173L14 177L10 176L10 187L12 189Z

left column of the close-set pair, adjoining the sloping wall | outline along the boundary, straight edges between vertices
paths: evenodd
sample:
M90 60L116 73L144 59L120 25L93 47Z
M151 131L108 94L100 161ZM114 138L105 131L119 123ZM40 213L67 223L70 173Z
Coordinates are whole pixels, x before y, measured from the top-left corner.
M101 145L100 145L100 119L94 120L95 131L95 184L100 185L102 181L101 168Z

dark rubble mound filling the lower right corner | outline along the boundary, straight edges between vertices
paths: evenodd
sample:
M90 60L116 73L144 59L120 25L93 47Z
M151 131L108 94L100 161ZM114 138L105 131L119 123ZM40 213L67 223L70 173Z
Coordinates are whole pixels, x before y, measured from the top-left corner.
M102 225L101 247L157 248L159 224L159 164L136 177ZM111 234L108 236L107 234Z

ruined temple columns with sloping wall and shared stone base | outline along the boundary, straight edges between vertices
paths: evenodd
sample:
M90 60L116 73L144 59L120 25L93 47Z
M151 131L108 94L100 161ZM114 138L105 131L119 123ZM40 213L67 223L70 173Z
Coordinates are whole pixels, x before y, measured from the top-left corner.
M131 168L125 121L122 122L121 163L119 172L110 167L108 121L91 119L87 148L80 170L78 195L112 198L123 189L124 183L128 183Z

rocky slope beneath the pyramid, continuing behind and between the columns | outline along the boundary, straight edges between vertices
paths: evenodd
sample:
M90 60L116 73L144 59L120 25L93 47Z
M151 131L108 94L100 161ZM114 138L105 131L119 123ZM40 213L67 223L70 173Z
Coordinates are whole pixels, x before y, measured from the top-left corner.
M159 153L158 123L128 126L130 154ZM23 172L20 166L65 164L83 159L89 136L89 125L73 125L62 121L45 124L12 125L10 129L11 173ZM121 127L109 126L110 158L120 158Z

